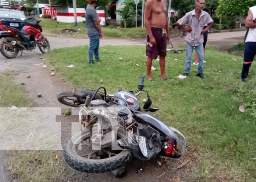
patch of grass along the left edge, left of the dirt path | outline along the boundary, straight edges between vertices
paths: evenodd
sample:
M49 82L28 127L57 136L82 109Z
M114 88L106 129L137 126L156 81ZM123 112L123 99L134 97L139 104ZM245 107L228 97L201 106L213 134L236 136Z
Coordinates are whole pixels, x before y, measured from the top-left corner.
M63 177L63 174L66 173L61 152L42 149L44 147L49 149L49 145L54 143L53 138L50 135L39 135L36 130L33 130L33 128L42 130L43 124L38 123L39 120L29 118L32 115L27 113L26 109L28 108L18 108L15 111L8 109L12 105L32 107L33 104L32 100L26 95L24 86L15 85L12 82L11 77L15 74L17 74L15 71L5 71L0 74L0 107L3 107L0 109L0 140L6 150L10 149L7 151L9 156L7 168L16 179L22 182L59 181L59 176ZM28 138L28 135L25 135L28 130L31 130L29 134L33 136L29 138L31 144L43 151L13 150L14 146L15 148L22 148L22 142ZM11 137L15 137L15 139ZM18 143L15 144L13 140ZM38 141L40 141L40 146ZM43 142L45 146L42 146ZM18 144L19 146L17 146ZM60 156L57 160L56 155Z

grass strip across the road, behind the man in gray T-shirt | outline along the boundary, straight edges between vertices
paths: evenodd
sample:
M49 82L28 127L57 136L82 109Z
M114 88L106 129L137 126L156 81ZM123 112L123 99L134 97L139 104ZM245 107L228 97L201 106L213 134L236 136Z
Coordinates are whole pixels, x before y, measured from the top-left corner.
M74 37L87 38L85 23L78 23L77 27L74 26L74 23L64 23L57 22L56 20L51 19L42 19L40 25L43 25L43 34L46 35L56 35L63 34L60 33L64 29L74 29L77 32L75 33L64 33L65 35L70 35ZM147 33L146 29L142 30L141 27L137 29L125 29L125 28L113 28L113 26L107 27L102 26L102 32L104 38L122 38L122 39L135 39L135 38L146 38Z

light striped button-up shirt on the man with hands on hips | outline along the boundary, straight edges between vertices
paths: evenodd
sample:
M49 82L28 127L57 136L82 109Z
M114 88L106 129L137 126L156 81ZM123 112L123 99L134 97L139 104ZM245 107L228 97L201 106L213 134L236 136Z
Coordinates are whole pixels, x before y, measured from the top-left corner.
M203 44L203 34L201 34L201 32L205 24L211 22L213 22L213 19L205 11L201 11L198 20L196 10L186 13L185 16L178 20L179 25L188 24L188 26L191 27L192 31L187 33L185 41L188 41L193 46Z

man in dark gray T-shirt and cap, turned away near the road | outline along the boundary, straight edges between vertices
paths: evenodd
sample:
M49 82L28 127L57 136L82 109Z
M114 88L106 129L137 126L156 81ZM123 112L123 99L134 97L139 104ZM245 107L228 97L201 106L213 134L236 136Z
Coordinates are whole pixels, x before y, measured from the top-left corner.
M85 10L85 21L87 34L90 38L89 46L89 63L93 64L93 54L95 55L95 60L100 62L99 46L100 38L103 38L102 29L100 27L101 19L95 10L95 5L97 0L86 0L89 4L86 6Z

